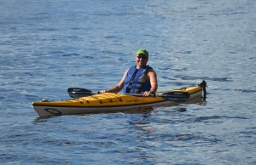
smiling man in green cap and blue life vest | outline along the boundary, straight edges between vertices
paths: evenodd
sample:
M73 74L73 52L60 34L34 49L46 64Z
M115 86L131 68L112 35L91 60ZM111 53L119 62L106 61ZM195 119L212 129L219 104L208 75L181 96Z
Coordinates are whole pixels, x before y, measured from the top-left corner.
M124 76L113 88L102 90L101 93L118 93L123 89L125 94L143 94L149 96L154 94L158 88L157 76L148 63L148 51L138 49L135 55L136 65L131 66L124 73Z

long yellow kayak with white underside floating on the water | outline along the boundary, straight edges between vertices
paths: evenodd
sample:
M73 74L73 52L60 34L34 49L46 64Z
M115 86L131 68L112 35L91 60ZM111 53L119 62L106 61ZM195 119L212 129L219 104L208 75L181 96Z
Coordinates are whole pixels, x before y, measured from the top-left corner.
M149 97L143 97L142 94L103 93L70 100L42 100L33 102L32 106L38 112L39 117L48 117L168 105L201 97L201 94L202 87L195 86L171 90L166 93L157 93Z

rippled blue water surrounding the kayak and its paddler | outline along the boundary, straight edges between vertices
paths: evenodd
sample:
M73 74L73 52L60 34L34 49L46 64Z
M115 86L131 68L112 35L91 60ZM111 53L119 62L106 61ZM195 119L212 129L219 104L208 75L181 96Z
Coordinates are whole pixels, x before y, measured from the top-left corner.
M256 1L0 2L0 164L256 164ZM108 89L149 52L159 91L207 102L38 118L32 101Z

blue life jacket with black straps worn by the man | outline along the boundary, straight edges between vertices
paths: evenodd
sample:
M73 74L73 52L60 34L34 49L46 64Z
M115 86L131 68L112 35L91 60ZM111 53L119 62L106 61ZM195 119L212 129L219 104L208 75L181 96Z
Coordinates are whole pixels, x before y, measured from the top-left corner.
M149 65L137 69L136 65L131 66L125 77L125 85L123 89L124 94L139 94L149 91L151 88L148 80L147 71L152 69Z

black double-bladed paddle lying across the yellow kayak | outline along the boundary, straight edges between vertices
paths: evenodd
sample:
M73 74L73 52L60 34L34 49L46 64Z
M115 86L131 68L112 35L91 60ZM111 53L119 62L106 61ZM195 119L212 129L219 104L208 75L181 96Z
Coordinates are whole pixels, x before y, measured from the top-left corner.
M86 88L68 88L67 89L68 94L72 98L79 98L79 97L85 97L85 96L90 96L92 94L99 94L98 93L93 93L91 90L86 89ZM137 96L137 97L143 97L143 94L125 94L125 95L132 95L132 96ZM171 100L171 101L185 101L189 99L189 93L183 92L183 91L169 91L166 93L159 93L159 94L154 94L153 96L160 96L164 98L165 100Z

